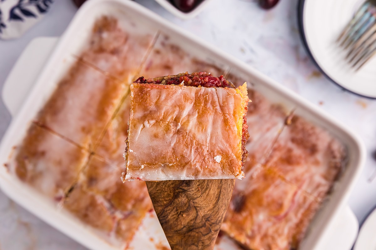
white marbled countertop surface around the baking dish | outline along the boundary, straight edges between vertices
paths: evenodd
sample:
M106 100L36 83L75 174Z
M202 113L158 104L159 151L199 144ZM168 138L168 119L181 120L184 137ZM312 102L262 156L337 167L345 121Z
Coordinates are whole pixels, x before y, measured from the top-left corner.
M128 0L124 0L128 1ZM350 196L359 222L376 205L376 100L342 90L324 78L309 60L297 29L297 0L280 0L269 11L255 0L215 0L196 18L180 20L153 0L136 0L185 30L252 65L305 97L358 133L367 160ZM55 1L45 18L11 41L0 40L0 91L15 61L34 37L60 36L77 8L71 0ZM11 120L0 101L0 138ZM85 249L36 218L0 191L0 250Z

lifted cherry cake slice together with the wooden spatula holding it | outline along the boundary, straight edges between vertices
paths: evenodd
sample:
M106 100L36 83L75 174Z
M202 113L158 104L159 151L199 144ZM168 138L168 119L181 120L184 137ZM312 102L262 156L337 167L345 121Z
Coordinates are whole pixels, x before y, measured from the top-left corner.
M172 250L213 249L244 177L246 83L197 72L140 77L130 91L123 181L147 181Z

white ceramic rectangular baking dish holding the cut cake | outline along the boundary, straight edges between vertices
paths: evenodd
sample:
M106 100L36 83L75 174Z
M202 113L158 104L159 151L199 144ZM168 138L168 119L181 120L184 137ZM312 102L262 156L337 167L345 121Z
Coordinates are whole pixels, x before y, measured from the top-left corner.
M230 70L231 73L242 75L243 78L248 79L256 90L272 102L281 103L290 110L294 109L296 114L317 126L327 129L346 145L349 152L347 166L335 183L329 199L323 204L312 221L301 244L301 249L333 249L327 247L333 244L337 246L335 249L350 249L358 228L356 218L346 206L346 202L365 159L365 149L358 137L297 94L277 84L247 64L216 50L212 45L191 34L182 32L180 28L132 1L88 1L79 9L58 42L54 38L48 38L42 39L43 42L38 41L30 44L34 47L27 49L20 57L3 89L3 100L11 111L13 119L0 145L0 163L8 161L12 147L23 139L30 121L36 116L56 87L58 80L71 65L72 54L79 54L91 33L94 21L102 15L115 16L120 22L122 18L132 18L135 22L143 22L155 28L155 30L169 34L174 41L179 42L179 46L183 49L192 51L193 54L200 54L201 59L210 63L221 62L222 68L226 65L227 70ZM29 60L33 58L31 56L35 53L35 50L44 52L41 52L40 55L42 56L39 56L41 60L37 60L38 62L35 62L34 57L34 72L39 72L38 65L40 67L45 64L45 66L40 73L30 73L28 78L23 78L23 75L27 74L20 73L20 70L21 72L25 70L23 65L28 58ZM44 63L47 57L49 59ZM32 80L36 75L39 76L34 82ZM19 91L20 89L23 91ZM9 174L2 165L0 166L0 188L27 210L89 249L120 249L117 246L110 246L98 237L98 234L90 227L77 221L65 210L56 208L53 201L35 192ZM336 238L335 235L339 237ZM154 239L154 243L150 241L150 238ZM141 228L136 232L131 246L135 250L158 249L155 246L156 242L167 244L155 214L149 214L143 221ZM234 244L227 241L221 241L216 248L231 249L230 246L236 249Z

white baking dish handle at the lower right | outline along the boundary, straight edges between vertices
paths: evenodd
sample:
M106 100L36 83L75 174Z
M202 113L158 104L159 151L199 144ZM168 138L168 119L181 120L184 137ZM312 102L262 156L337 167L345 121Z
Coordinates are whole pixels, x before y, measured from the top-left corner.
M359 232L359 222L349 207L344 206L316 244L315 250L352 249Z

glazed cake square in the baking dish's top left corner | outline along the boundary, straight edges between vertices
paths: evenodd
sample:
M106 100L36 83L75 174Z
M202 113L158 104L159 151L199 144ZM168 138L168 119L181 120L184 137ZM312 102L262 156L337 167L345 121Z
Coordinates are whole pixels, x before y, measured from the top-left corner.
M157 31L132 21L108 16L100 18L93 28L89 46L80 59L91 66L130 84L153 46Z

